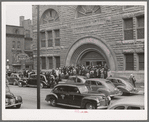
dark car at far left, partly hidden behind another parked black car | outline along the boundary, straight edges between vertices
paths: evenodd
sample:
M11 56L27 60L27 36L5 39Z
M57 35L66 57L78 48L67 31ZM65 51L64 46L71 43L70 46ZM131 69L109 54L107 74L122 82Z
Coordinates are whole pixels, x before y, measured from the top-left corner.
M21 77L18 73L11 73L10 76L7 76L7 81L9 85L18 85L19 80L21 80Z

